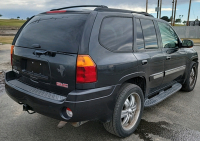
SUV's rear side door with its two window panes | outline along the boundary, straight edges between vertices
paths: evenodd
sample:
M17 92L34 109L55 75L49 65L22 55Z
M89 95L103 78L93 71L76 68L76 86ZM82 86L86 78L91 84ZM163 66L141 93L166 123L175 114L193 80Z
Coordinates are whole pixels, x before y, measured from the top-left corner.
M136 18L136 46L139 71L144 71L149 94L159 89L164 76L164 55L159 48L154 21Z

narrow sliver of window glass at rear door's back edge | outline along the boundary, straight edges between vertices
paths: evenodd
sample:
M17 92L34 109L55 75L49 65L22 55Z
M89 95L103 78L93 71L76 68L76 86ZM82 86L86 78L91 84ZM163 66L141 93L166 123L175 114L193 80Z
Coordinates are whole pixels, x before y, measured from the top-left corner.
M136 38L137 49L144 50L144 36L142 33L142 27L139 19L136 19L136 30L137 30L137 38Z

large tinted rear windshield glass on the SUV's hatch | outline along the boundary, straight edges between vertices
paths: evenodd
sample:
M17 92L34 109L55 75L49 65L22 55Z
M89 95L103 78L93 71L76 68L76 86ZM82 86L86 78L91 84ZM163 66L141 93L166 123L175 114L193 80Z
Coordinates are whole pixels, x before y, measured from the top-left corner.
M77 53L88 14L36 16L24 27L16 46Z

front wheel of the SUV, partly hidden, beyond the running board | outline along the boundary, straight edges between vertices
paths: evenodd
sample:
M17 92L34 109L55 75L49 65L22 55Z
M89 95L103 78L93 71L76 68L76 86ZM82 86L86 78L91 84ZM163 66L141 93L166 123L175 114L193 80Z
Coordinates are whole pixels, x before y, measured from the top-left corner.
M198 76L198 67L196 62L192 62L187 73L187 78L182 86L182 91L190 92L194 89Z

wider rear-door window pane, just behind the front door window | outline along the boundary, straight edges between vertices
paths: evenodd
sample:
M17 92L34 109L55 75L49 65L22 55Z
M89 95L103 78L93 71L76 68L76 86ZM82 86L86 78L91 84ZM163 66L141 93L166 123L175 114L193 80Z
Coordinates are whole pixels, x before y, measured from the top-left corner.
M144 34L145 48L157 49L158 41L153 21L141 19L141 25Z

